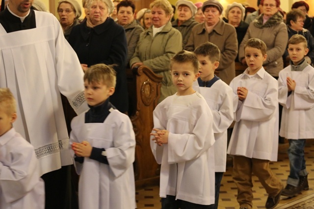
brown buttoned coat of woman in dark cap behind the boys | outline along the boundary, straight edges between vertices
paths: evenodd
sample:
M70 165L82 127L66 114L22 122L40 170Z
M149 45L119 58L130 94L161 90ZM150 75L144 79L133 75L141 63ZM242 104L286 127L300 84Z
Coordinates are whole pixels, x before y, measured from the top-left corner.
M235 77L235 57L237 55L237 39L235 27L225 23L222 19L208 33L205 23L193 27L190 38L184 49L194 51L197 46L205 42L211 42L218 46L221 56L219 61L219 78L228 85Z

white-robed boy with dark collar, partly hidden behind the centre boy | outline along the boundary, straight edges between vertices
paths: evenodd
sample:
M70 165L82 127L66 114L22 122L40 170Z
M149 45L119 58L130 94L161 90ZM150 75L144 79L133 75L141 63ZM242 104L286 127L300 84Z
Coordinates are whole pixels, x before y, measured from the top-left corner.
M212 43L198 46L194 53L200 64L200 77L193 83L193 88L204 96L213 116L215 143L215 204L218 208L220 183L226 172L227 129L234 120L233 96L230 86L214 74L219 66L220 50Z

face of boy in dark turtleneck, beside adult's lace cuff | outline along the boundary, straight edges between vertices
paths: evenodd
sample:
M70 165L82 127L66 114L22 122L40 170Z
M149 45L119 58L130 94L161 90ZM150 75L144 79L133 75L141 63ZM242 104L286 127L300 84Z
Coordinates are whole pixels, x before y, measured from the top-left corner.
M100 83L88 83L87 80L84 81L84 96L87 104L90 106L97 106L105 102L109 96L114 93L114 88L108 88L103 82Z

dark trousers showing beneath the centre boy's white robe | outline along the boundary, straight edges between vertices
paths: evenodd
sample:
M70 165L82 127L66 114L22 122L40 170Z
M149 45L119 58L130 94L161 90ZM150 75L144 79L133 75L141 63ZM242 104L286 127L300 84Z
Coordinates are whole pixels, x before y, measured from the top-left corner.
M176 200L176 196L167 195L161 198L161 209L209 209L209 205L199 205L186 202L184 200Z

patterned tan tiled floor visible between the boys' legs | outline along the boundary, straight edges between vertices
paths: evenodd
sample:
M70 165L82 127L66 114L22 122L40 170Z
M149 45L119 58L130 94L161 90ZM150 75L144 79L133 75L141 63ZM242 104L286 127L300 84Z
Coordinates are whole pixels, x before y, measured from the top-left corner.
M272 171L286 185L289 174L289 161L287 155L288 143L280 144L278 162L271 163ZM309 172L310 190L302 191L294 198L281 196L276 209L314 209L314 140L308 140L305 148L306 166ZM258 178L253 176L254 201L253 209L265 208L267 194L260 184ZM138 209L161 209L159 202L159 187L150 187L136 191L136 201ZM227 167L227 171L222 179L218 209L238 209L236 202L237 188L232 180L232 167Z

